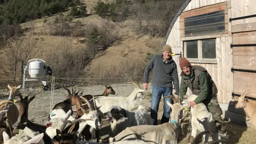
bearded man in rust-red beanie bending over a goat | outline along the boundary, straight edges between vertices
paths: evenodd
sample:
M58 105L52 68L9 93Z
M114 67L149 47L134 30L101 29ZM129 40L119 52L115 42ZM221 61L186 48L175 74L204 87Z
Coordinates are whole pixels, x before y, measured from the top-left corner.
M208 111L212 113L220 136L227 140L228 135L226 127L220 116L222 115L222 110L217 100L218 90L214 81L212 80L212 77L204 67L191 66L190 62L188 62L188 60L184 57L180 58L180 68L182 70L180 75L182 76L182 79L179 96L183 99L183 96L187 92L187 88L190 88L194 94L198 95L194 101L190 102L190 106L194 108L196 104L205 104L208 108ZM191 121L188 128L188 134L191 135ZM191 143L191 141L188 143Z

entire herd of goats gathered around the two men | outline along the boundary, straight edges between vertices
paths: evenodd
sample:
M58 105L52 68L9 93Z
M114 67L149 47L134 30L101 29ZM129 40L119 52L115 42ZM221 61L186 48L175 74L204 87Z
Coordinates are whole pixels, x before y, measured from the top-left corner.
M166 96L173 100L167 102L172 108L169 122L157 126L152 125L150 112L141 105L145 98L142 90L136 82L136 86L128 97L108 96L116 92L110 85L105 86L101 95L83 95L83 91L70 92L65 95L66 100L54 106L48 116L48 120L42 120L44 125L35 124L28 120L28 105L35 98L30 93L23 97L19 91L20 86L10 86L10 95L7 100L0 102L0 144L98 144L100 137L101 120L104 118L110 122L114 137L110 137L108 144L178 144L178 127L181 123L182 134L184 118L191 112L192 136L191 144L197 144L203 137L204 144L229 143L221 140L212 114L207 111L204 104L197 104L190 108L189 102L196 95L184 96L177 102L174 95ZM80 92L80 93L79 93ZM250 107L244 92L238 99L236 108L244 108L247 112ZM164 98L166 98L164 97ZM18 100L17 98L20 98ZM14 104L16 102L19 109ZM72 106L76 107L76 116L72 116ZM20 111L20 113L19 113ZM20 122L16 128L13 124ZM256 128L256 112L250 112L251 120ZM197 134L197 131L200 133ZM97 142L89 141L96 139Z

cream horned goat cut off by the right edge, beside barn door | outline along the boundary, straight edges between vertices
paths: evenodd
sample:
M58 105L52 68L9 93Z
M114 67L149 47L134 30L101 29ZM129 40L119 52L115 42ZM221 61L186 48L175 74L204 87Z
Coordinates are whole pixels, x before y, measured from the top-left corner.
M245 96L250 93L252 93L252 90L244 92L240 98L237 98L238 103L236 104L236 108L244 108L244 111L249 115L252 125L256 129L256 110L254 110L248 98L245 98Z

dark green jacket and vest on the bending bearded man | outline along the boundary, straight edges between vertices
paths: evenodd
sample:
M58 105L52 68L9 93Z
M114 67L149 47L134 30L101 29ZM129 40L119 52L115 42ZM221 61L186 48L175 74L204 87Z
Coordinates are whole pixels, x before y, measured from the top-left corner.
M178 95L183 99L187 88L190 88L193 94L198 95L194 100L196 104L208 104L212 97L216 96L218 93L212 77L202 66L192 66L190 71L190 76L186 76L183 72L181 73L180 76L182 76L182 79Z

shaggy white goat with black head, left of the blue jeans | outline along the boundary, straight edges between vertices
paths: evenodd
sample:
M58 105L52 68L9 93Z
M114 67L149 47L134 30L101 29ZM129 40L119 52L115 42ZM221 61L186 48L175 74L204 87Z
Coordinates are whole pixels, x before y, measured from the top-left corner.
M142 105L139 105L134 112L120 108L120 106L112 106L108 112L104 113L104 116L107 121L110 121L114 136L131 126L153 125L150 112Z

